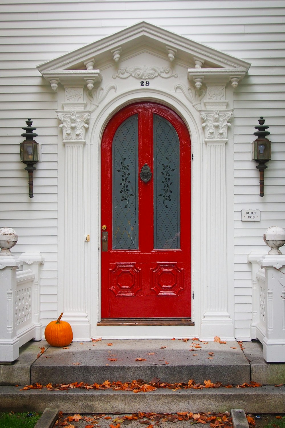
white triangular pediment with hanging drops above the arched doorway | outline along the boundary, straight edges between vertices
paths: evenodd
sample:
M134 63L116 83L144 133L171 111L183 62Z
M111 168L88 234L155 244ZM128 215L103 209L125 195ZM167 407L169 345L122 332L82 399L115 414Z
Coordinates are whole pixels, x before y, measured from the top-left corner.
M103 70L115 63L148 52L168 63L176 62L187 69L188 79L194 80L203 74L212 77L223 76L229 81L240 80L246 74L250 63L194 42L178 34L140 22L86 45L76 51L38 65L40 73L52 83L62 84L76 80L101 81Z

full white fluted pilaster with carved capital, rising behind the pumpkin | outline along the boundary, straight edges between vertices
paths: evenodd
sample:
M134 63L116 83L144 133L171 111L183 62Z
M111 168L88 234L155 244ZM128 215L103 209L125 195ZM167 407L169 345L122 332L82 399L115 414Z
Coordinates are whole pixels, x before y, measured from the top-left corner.
M66 88L64 111L58 111L65 144L64 312L73 341L90 339L86 311L84 247L84 146L90 112L79 102L82 88ZM60 312L60 311L59 311Z

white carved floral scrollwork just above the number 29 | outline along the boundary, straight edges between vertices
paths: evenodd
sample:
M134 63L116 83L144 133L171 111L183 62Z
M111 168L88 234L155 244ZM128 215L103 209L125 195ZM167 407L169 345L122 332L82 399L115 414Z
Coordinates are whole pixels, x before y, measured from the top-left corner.
M168 79L169 77L178 77L177 73L172 72L172 68L170 67L147 67L144 65L144 67L135 66L132 68L129 67L122 67L118 69L118 73L113 74L113 79L116 79L119 77L120 79L127 79L128 77L134 77L135 79L143 79L143 80L150 80L154 79L155 77L163 77L164 79Z

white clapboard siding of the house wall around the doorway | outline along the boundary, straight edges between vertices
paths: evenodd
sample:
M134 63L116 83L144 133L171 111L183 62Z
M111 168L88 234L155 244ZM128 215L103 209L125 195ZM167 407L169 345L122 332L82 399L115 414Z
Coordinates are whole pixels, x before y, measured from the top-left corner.
M57 120L56 94L36 65L73 51L138 21L148 21L252 63L234 93L235 335L250 338L251 274L247 254L267 247L267 227L285 226L285 72L283 0L0 0L0 211L2 225L19 233L18 253L44 253L41 318L57 316ZM265 196L250 143L259 116L269 125L272 161ZM22 127L37 127L42 162L34 193L19 163ZM243 208L260 209L260 222L242 222ZM47 240L47 237L49 239Z

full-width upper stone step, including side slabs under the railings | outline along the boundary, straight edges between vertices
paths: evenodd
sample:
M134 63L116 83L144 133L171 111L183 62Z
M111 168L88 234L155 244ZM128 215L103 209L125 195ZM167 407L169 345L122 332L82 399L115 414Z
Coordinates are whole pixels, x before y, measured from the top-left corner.
M107 342L113 345L108 346ZM223 384L250 381L263 385L285 383L285 364L266 363L262 357L262 346L257 341L244 342L245 355L237 342L228 342L226 345L196 343L200 343L202 348L189 352L191 340L187 343L178 340L102 340L96 343L84 342L82 345L73 342L66 350L50 347L44 340L31 341L21 347L20 357L15 363L0 365L0 384L13 386L32 382L70 383L76 380L100 383L99 377L102 377L102 382L107 379L130 381L138 378L149 381L153 376L170 383L188 382L190 378L202 383L205 379L211 379L212 382L219 380ZM166 348L160 350L161 346ZM42 347L45 352L37 359ZM210 351L214 352L212 360L207 359ZM152 352L156 354L149 355ZM114 354L120 355L120 358L110 362L108 357ZM95 360L94 355L98 357ZM135 357L144 357L147 361L138 363ZM170 364L166 365L165 361ZM80 365L73 366L75 362L80 362ZM226 370L231 377L228 377ZM185 379L180 379L182 376Z

